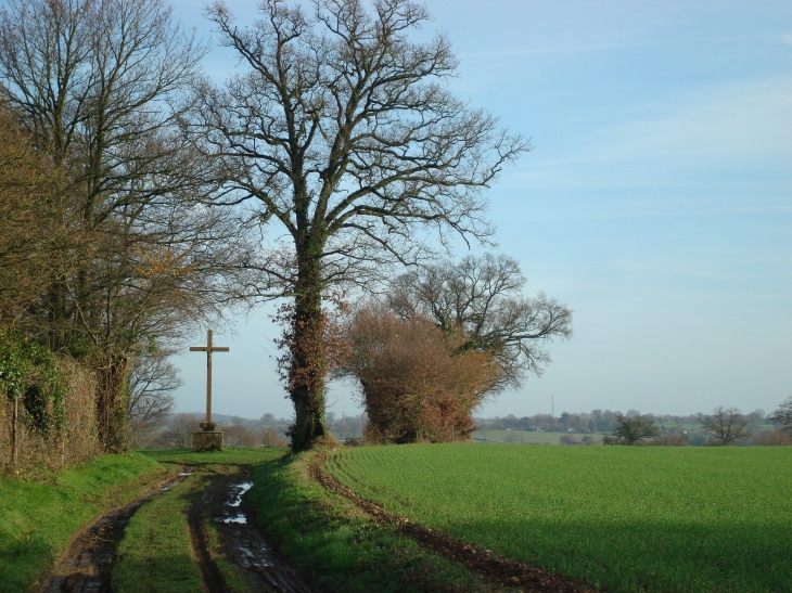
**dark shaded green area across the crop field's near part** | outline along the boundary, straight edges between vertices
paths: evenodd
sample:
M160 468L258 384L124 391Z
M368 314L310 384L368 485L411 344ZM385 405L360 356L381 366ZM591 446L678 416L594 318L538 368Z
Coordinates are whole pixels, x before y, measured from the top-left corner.
M716 521L717 523L717 521ZM503 556L619 592L792 592L792 533L691 520L481 520L437 525Z

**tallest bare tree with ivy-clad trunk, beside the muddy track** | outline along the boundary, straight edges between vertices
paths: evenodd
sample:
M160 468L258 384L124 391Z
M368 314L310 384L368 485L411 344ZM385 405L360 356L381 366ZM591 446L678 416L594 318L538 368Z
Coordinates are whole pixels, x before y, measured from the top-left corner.
M246 28L222 3L207 11L245 72L203 87L203 141L223 167L217 202L251 199L279 228L258 266L271 287L261 294L294 302L294 450L327 434L323 295L425 257L422 230L488 236L482 191L528 150L447 90L457 61L445 37L410 40L423 7L366 7L315 0L306 14L264 0Z

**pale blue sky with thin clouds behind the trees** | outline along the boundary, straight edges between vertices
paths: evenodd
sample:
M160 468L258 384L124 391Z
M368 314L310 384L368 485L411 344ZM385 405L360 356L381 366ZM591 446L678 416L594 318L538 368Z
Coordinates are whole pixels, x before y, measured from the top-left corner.
M574 311L544 375L477 415L550 413L551 399L557 415L769 412L792 396L792 4L425 4L419 36L445 31L460 60L451 90L534 145L488 193L495 250L520 261L526 296ZM254 2L227 5L255 20ZM212 35L194 2L174 7ZM234 65L228 50L205 62L218 82ZM215 412L291 416L270 314L216 332L230 352L214 359ZM205 356L173 361L177 411L202 411ZM329 403L359 413L354 385Z

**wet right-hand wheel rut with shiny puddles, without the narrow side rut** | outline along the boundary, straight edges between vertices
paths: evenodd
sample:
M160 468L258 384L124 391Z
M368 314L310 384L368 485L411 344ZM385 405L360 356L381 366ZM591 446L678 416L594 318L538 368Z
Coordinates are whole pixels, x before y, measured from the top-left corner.
M251 591L322 593L319 586L301 577L268 537L248 520L250 510L243 503L243 495L251 486L245 474L227 476L209 487L201 502L216 524L226 557L241 569ZM209 588L209 591L214 590Z

